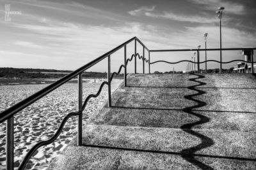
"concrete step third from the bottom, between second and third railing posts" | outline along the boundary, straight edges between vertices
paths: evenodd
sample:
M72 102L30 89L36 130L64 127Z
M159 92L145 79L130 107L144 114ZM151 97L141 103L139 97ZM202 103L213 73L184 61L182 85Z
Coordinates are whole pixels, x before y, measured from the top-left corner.
M197 124L192 129L256 131L255 113L222 111L193 111L193 113L209 118L209 122ZM198 120L200 118L184 110L118 108L115 106L108 108L104 106L92 115L88 124L179 129L184 124L191 124Z

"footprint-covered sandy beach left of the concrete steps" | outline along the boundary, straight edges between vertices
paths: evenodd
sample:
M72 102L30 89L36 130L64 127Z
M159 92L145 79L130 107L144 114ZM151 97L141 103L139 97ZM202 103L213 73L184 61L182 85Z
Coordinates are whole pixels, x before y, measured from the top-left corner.
M83 83L83 100L89 94L95 94L103 79L90 80ZM122 80L114 79L111 90L114 91ZM13 104L31 96L47 85L12 85L0 87L0 111L6 110ZM97 98L92 98L88 102L83 112L83 123L92 115L99 106L108 99L108 88L104 86L101 94ZM14 118L14 145L15 145L15 169L19 166L22 158L28 150L36 143L51 138L56 132L61 120L72 111L77 110L77 83L67 83L59 89L54 90L28 108L20 111ZM56 141L50 145L42 146L29 160L26 169L47 169L49 162L58 156L65 146L77 134L77 117L70 118L64 126L63 131ZM0 124L0 169L6 169L6 124Z

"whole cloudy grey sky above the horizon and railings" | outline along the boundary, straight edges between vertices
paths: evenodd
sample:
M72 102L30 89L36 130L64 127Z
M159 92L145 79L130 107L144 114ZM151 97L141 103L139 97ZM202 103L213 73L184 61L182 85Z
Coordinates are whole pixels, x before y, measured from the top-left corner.
M19 11L5 20L5 5ZM223 0L1 0L0 67L75 70L128 39L137 36L150 50L220 48L220 23L215 11L224 6L222 48L256 46L256 1ZM127 45L127 57L134 44ZM142 55L142 48L138 46ZM191 60L193 52L152 53L150 59L177 62ZM145 57L148 55L146 53ZM208 52L207 59L220 59ZM255 58L255 57L254 57ZM243 59L241 51L223 52L223 61ZM200 52L200 61L205 53ZM256 60L256 59L255 59ZM124 62L124 50L111 55L111 70ZM152 64L152 71L186 69L182 64ZM224 68L236 65L225 64ZM89 71L107 71L103 60ZM204 69L205 64L200 67ZM208 68L218 64L208 63ZM138 71L142 71L138 61ZM134 62L129 63L134 71ZM146 73L148 65L146 64Z

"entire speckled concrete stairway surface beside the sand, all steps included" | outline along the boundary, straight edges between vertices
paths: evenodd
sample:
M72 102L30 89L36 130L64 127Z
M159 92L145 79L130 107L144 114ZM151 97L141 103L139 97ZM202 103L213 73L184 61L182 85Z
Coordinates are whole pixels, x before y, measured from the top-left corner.
M49 169L256 169L256 76L130 74Z

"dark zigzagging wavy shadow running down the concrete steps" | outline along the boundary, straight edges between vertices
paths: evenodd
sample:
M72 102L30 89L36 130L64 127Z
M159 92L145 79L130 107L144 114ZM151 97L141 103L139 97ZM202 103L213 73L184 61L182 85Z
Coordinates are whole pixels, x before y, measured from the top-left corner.
M193 136L196 136L197 138L200 138L202 142L197 146L193 146L191 148L186 148L186 149L182 150L180 153L181 153L181 157L183 159L187 160L188 162L190 162L191 164L194 164L197 167L200 167L201 169L213 169L212 167L205 165L203 162L196 160L195 157L193 156L195 154L195 152L214 145L214 141L211 138L208 138L207 136L204 136L203 134L195 132L192 129L195 125L205 124L210 121L210 119L208 117L205 117L204 115L200 115L200 114L192 111L195 108L200 108L200 107L203 107L206 105L206 103L204 101L199 101L199 100L193 99L194 96L200 96L200 95L206 93L202 90L196 89L196 87L198 87L198 86L206 85L206 83L204 83L204 82L196 81L196 79L205 78L205 76L202 76L200 74L193 74L193 75L198 76L198 78L190 78L189 81L194 81L199 84L189 86L188 89L195 90L198 93L184 96L184 98L188 99L190 101L195 101L198 104L196 104L195 106L184 108L183 111L185 111L189 115L193 115L195 117L200 118L200 120L197 122L184 124L180 127L180 129L182 129L182 131L187 132Z

